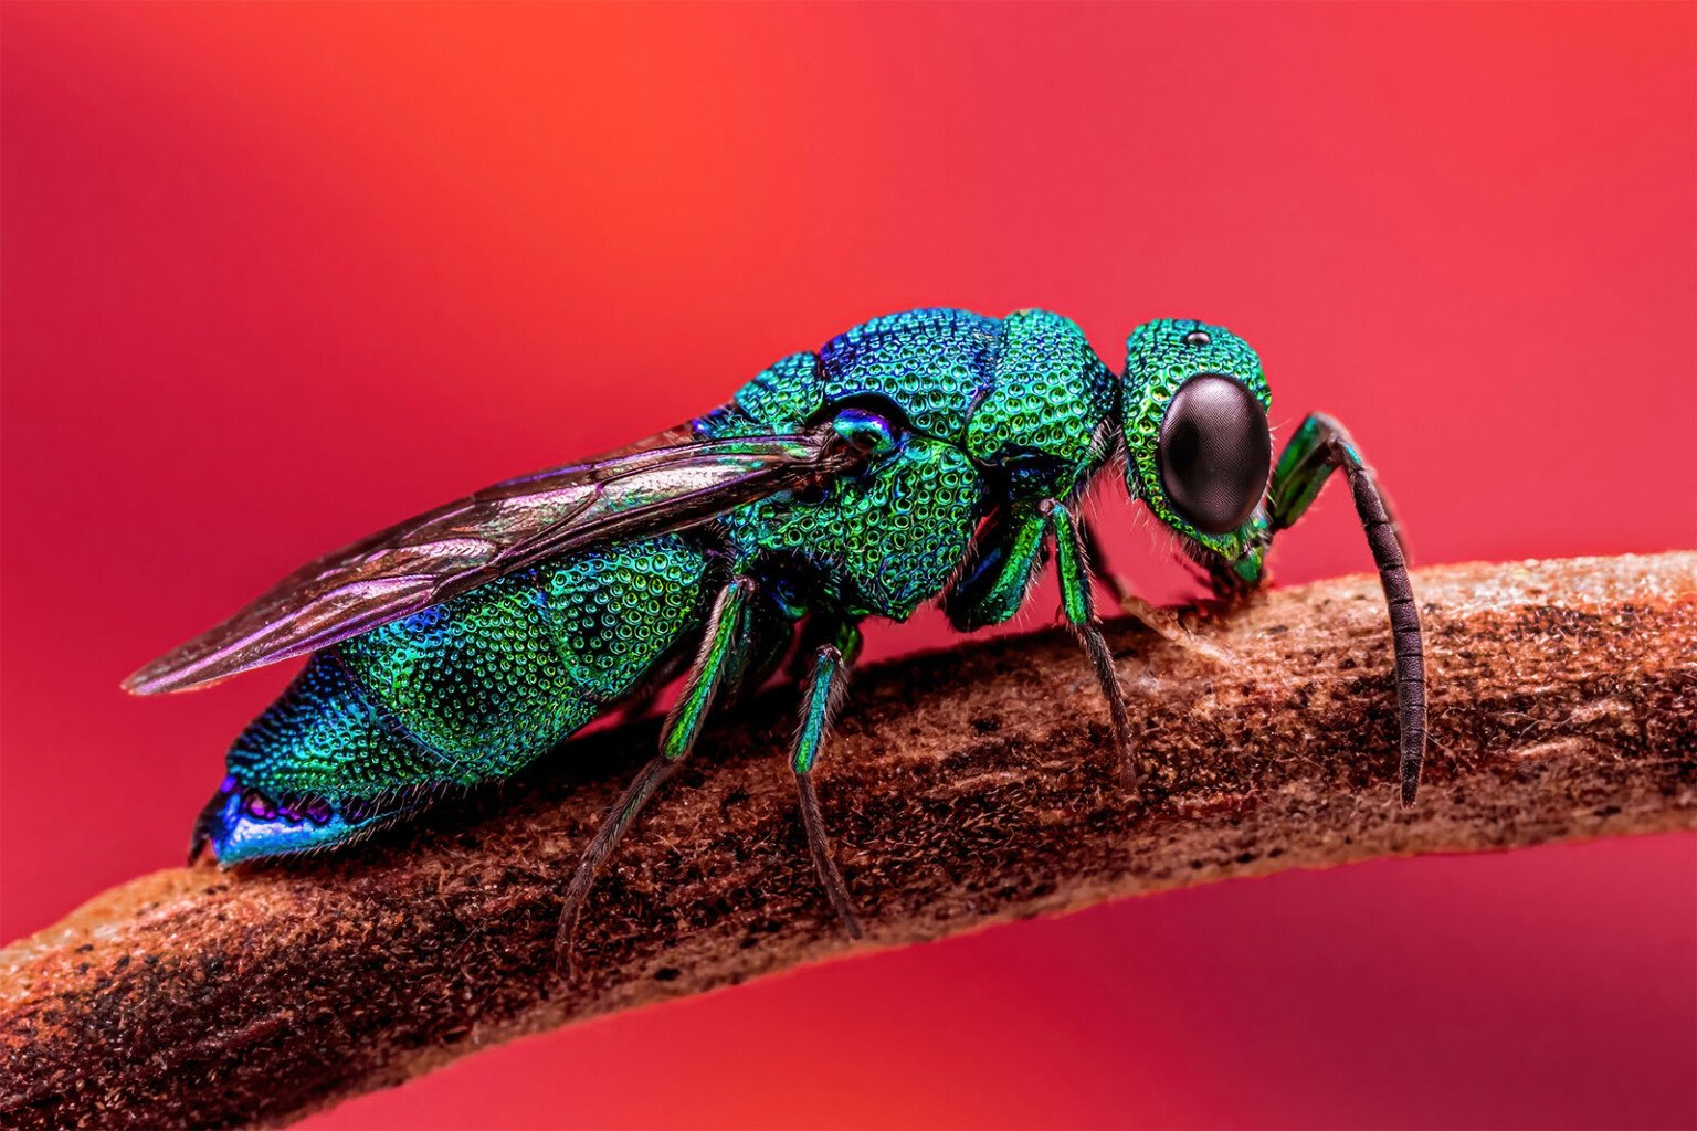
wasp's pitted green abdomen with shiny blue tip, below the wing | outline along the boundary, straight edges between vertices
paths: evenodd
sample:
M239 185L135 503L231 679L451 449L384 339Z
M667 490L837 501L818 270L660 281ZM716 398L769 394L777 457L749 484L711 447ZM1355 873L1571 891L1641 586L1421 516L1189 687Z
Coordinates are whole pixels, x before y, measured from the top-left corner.
M317 848L514 773L701 626L706 568L684 536L613 544L319 653L236 739L199 836L226 863Z

